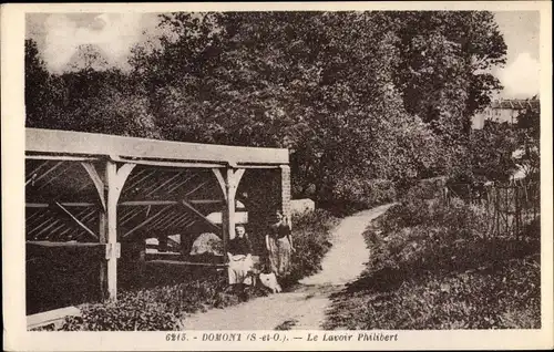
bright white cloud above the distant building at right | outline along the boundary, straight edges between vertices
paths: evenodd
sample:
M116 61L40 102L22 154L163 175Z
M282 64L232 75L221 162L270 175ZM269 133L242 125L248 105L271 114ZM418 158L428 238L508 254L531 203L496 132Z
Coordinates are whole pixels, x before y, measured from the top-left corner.
M499 80L504 85L505 97L532 97L540 91L541 65L530 53L521 53L500 71Z

